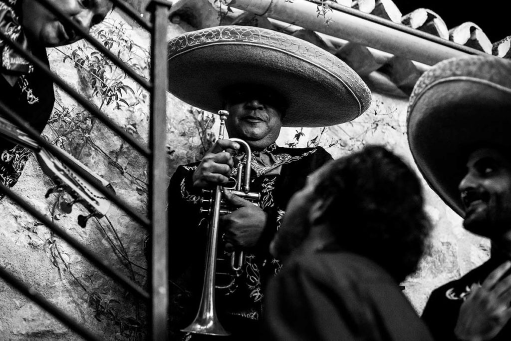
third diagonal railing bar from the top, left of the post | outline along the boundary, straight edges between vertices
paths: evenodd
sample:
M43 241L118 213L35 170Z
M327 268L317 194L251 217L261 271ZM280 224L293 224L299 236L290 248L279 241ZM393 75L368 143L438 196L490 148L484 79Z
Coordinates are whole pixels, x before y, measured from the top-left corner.
M0 30L0 39L4 40L10 47L12 47L18 54L26 58L29 62L38 67L45 75L50 77L60 88L62 88L66 93L72 96L80 105L82 105L86 110L88 110L92 115L94 115L98 120L100 120L105 126L112 129L115 133L117 133L121 138L123 138L126 142L129 143L136 151L141 153L145 157L149 157L150 151L148 148L140 144L136 141L128 132L119 127L115 122L110 120L108 117L104 115L95 105L92 105L85 97L80 95L74 88L69 86L66 82L64 82L60 77L57 77L53 74L50 68L47 65L44 65L39 59L32 56L30 53L27 53L24 49L22 49L19 44L15 41L12 41L4 32Z

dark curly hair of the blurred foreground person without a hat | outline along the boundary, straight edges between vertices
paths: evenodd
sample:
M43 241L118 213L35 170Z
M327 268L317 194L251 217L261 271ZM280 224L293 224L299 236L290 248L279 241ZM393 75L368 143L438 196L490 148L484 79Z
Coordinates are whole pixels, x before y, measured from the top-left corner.
M314 191L330 199L321 222L343 249L365 256L398 282L416 271L431 223L416 174L381 146L332 161Z

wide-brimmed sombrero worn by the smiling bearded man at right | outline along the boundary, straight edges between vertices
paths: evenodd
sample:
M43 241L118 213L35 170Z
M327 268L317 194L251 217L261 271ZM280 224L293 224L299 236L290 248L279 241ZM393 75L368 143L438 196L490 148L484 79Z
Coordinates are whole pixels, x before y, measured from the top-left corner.
M408 143L431 188L459 215L458 185L477 148L511 150L511 61L449 59L425 72L408 107Z

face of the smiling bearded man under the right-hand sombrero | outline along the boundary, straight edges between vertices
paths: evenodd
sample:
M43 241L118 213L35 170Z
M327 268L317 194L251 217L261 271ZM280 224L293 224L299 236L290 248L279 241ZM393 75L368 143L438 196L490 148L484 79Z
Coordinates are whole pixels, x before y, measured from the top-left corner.
M480 148L469 156L467 174L459 184L465 208L463 226L495 238L511 223L511 163L499 151Z

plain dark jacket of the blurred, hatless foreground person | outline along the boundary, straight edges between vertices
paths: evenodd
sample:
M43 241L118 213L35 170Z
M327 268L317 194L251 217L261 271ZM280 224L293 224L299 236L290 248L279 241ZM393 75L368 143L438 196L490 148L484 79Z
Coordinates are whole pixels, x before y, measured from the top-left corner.
M265 297L264 341L432 341L378 264L335 249L291 256Z

